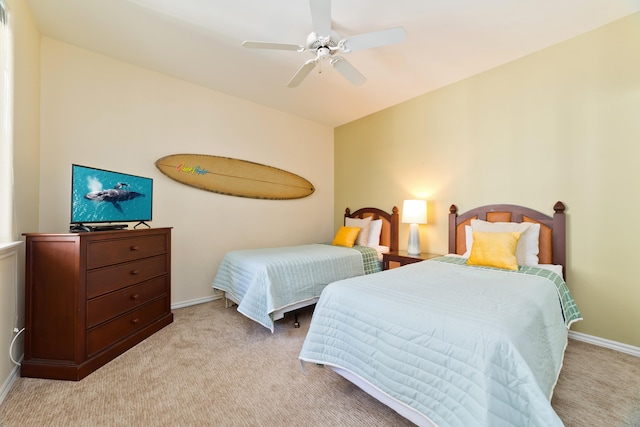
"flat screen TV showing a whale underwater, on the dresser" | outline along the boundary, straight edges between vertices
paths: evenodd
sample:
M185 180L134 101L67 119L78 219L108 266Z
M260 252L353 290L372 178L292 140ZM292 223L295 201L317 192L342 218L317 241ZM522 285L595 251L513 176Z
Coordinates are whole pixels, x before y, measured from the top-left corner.
M122 222L148 227L152 212L153 179L71 165L71 231L126 228L113 224Z

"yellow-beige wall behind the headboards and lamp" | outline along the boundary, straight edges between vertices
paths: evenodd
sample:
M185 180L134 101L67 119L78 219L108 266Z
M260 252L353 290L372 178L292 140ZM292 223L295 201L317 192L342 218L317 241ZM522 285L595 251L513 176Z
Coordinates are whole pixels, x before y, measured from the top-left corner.
M451 204L561 200L573 329L640 346L638 226L622 220L640 211L639 111L636 14L337 128L334 225L345 203L426 198L423 251L446 253Z

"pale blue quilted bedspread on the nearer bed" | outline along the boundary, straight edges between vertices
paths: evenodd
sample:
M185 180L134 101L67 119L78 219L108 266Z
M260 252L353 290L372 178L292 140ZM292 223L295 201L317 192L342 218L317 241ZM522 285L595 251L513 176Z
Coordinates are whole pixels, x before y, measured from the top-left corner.
M434 260L327 286L300 359L442 427L561 426L550 399L567 334L547 278Z

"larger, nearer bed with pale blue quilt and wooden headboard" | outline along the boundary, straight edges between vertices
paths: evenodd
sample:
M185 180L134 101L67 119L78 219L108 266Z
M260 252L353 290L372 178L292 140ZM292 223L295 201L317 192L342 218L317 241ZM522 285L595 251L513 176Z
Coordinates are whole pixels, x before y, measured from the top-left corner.
M303 368L327 365L418 425L561 426L550 401L581 317L562 277L564 205L554 210L452 206L450 255L325 288ZM482 259L505 239L515 268Z

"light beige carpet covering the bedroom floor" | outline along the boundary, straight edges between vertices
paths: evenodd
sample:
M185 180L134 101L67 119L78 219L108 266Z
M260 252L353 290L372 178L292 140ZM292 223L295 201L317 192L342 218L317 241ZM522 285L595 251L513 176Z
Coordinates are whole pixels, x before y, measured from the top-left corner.
M311 310L271 334L222 301L175 320L79 382L18 379L0 406L14 426L410 426L298 353ZM553 406L567 426L640 426L640 360L571 341Z

